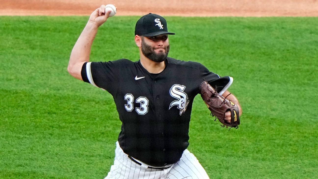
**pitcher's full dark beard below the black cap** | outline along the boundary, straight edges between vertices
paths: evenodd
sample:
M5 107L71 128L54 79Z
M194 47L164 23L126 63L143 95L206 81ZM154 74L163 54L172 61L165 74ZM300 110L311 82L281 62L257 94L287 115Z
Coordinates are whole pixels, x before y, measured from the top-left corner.
M163 49L164 49L164 52L156 53L153 47L146 44L144 40L142 40L142 44L141 44L142 54L154 62L162 62L167 58L169 50L170 50L170 45L164 47Z

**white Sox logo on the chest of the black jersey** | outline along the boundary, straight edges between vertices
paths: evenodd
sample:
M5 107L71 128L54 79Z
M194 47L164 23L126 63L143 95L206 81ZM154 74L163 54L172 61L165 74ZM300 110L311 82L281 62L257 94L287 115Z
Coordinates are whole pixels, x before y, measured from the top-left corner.
M187 93L183 92L184 89L185 86L180 84L174 84L170 88L170 95L177 100L170 103L169 110L172 106L176 105L177 108L180 109L180 116L185 112L185 110L187 110L187 106L189 104L188 95Z

